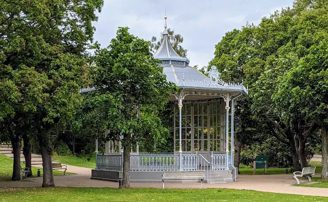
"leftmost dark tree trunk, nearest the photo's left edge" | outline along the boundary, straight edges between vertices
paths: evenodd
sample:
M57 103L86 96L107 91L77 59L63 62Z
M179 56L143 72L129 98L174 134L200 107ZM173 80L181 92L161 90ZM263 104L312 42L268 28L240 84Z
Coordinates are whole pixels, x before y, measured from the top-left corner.
M19 135L12 136L11 144L14 156L14 164L12 170L12 181L20 180L20 147L22 146L22 137Z

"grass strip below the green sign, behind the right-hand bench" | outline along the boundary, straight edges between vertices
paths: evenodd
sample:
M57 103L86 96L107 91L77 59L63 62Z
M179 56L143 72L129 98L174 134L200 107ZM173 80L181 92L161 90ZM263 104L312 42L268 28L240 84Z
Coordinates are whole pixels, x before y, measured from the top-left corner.
M321 173L321 162L316 161L310 161L311 166L317 166L316 173ZM253 168L239 168L240 175L252 175L253 174ZM267 174L285 174L286 168L267 168ZM289 169L289 174L293 173L291 172L291 169ZM264 174L263 168L256 169L256 174Z

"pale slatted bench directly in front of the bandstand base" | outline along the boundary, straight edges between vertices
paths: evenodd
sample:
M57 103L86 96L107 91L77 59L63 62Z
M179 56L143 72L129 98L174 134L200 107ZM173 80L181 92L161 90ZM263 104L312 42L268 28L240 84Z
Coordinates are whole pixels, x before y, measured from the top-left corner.
M204 173L202 170L164 171L164 174L162 174L163 189L165 180L201 180L201 188L204 188Z

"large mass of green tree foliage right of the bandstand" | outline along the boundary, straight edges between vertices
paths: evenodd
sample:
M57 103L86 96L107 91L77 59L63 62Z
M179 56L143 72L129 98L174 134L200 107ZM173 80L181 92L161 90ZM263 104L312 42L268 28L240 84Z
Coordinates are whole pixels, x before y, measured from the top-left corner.
M250 99L241 100L239 106L248 102L251 114L239 113L236 118L256 120L257 132L289 145L296 169L307 166L306 143L316 139L324 122L316 120L326 119L324 59L314 51L318 46L324 50L327 11L326 1L296 0L292 8L262 18L258 26L246 24L228 32L210 62L224 80L244 78ZM244 121L240 126L252 125ZM238 135L238 123L236 131Z

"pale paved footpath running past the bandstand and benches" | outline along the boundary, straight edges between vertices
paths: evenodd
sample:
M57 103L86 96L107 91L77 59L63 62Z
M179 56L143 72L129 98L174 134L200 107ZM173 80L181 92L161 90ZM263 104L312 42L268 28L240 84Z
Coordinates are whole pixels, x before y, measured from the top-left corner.
M112 187L117 188L118 183L91 180L91 168L68 165L68 172L76 175L54 176L56 186L63 187ZM204 188L231 188L267 191L274 193L301 194L313 196L328 196L328 188L295 187L296 180L293 174L277 175L239 175L237 182L226 184L204 184ZM1 182L0 187L40 187L42 178L32 178L23 182ZM167 183L166 188L200 188L200 183ZM131 183L131 187L161 188L161 183Z

